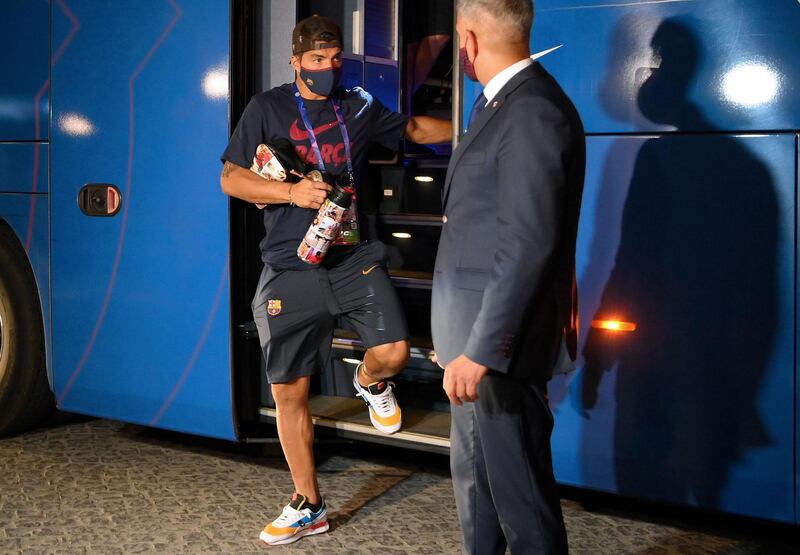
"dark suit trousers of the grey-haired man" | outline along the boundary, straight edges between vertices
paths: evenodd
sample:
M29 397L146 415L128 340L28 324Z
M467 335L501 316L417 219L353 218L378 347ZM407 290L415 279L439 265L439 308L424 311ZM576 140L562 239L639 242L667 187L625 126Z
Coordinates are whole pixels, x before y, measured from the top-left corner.
M546 391L545 380L489 371L476 402L451 405L450 469L464 553L567 553Z

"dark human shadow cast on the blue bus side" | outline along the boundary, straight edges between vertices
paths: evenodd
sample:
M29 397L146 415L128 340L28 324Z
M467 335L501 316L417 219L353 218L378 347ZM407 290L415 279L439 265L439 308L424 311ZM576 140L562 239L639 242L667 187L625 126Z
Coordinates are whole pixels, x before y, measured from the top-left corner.
M619 246L592 320L637 327L588 332L581 404L594 417L615 371L604 406L615 411L608 443L619 493L721 508L734 466L771 443L757 396L776 332L779 215L765 163L690 100L705 55L693 27L666 19L651 40L660 66L638 87L638 107L679 133L629 139L638 151ZM603 181L600 198L620 185ZM614 223L597 215L597 248L608 247L597 237ZM594 248L592 259L608 256Z

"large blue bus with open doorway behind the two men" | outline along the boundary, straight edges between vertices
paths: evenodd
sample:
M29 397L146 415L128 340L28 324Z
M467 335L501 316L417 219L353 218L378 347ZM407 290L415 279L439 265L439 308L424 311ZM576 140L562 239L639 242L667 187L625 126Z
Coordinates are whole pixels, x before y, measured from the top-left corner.
M292 78L289 34L311 13L342 24L348 84L462 128L479 91L452 40L408 87L425 36L409 5L2 3L0 434L54 407L271 433L250 313L263 228L221 192L219 155L250 96ZM800 522L798 28L795 0L536 2L531 51L560 47L540 61L588 149L579 358L550 384L562 484ZM364 192L414 336L406 429L378 435L356 410L347 330L314 386L318 426L448 449L429 360L448 154L376 152Z

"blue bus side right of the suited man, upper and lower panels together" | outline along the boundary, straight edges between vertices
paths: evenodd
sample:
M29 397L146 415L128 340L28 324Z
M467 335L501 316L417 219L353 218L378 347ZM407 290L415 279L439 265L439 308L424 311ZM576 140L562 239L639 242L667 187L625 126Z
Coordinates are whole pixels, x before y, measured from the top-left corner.
M531 51L563 45L540 61L589 134L559 481L798 522L798 26L791 2L536 3Z

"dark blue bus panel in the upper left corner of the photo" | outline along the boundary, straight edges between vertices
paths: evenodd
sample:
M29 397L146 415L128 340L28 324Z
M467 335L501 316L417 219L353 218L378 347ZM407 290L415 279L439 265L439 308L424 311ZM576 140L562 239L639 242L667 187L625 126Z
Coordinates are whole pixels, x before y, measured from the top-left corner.
M50 5L44 0L5 0L2 9L0 141L46 140Z

